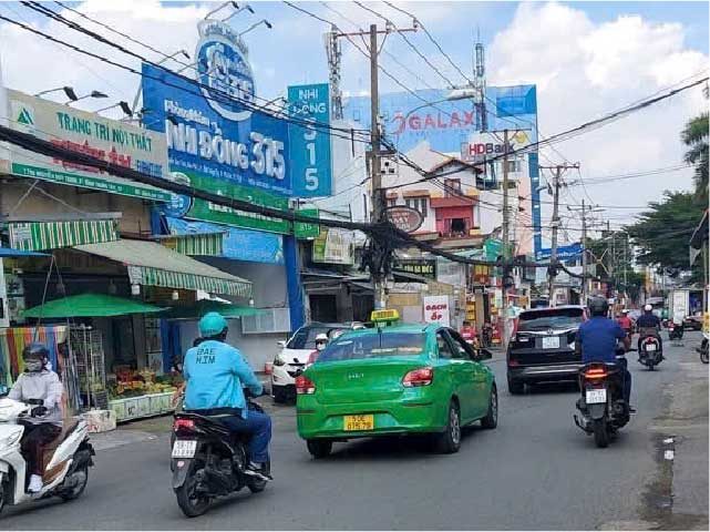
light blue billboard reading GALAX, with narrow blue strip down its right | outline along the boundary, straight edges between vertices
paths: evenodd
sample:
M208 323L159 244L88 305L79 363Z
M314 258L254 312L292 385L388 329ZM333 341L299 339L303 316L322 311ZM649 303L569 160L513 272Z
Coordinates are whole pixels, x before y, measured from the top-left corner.
M432 150L461 153L463 144L480 133L525 130L529 143L537 142L536 85L488 86L485 90L485 113L472 100L449 101L447 90L421 90L380 95L380 114L388 141L401 152L409 152L423 141ZM370 127L370 96L353 96L344 102L343 115ZM537 151L527 157L533 207L533 243L542 248L539 168Z

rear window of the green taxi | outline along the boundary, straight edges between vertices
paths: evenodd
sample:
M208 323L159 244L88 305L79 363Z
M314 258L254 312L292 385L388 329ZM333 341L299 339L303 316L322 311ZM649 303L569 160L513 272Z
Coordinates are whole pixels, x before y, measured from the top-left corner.
M331 342L318 357L318 362L360 358L418 357L424 351L423 332L381 332L343 337Z

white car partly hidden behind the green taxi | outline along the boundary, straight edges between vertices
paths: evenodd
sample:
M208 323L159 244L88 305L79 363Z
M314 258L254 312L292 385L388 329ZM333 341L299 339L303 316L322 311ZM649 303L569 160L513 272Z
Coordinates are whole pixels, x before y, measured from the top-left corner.
M312 323L299 328L288 341L279 341L281 351L274 359L271 395L275 402L286 402L296 397L296 377L306 369L308 358L316 350L316 337L325 332L332 338L341 330L364 328L359 321L348 324Z

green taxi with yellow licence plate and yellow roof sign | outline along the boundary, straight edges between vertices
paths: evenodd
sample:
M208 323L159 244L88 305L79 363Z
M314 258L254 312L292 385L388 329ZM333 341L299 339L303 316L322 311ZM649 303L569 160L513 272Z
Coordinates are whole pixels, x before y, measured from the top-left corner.
M398 317L380 313L383 321ZM298 433L315 458L333 441L402 433L431 433L451 453L461 427L496 427L495 378L482 364L488 351L438 324L377 325L331 341L296 379Z

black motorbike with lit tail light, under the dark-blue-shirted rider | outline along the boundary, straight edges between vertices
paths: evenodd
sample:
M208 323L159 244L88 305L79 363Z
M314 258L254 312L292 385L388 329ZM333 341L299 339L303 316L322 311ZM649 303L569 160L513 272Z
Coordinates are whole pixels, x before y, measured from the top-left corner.
M618 361L624 359L624 349L617 349ZM621 364L590 362L579 369L577 399L579 417L575 424L591 436L597 447L605 448L617 431L629 422L629 406L624 400L624 374Z

